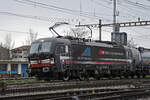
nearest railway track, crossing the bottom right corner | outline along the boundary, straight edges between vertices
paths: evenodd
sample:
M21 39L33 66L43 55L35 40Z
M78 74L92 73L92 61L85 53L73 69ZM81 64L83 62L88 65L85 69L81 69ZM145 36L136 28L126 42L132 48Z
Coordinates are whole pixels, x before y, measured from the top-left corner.
M79 94L72 96L55 96L43 100L133 100L133 98L136 99L143 96L149 96L149 94L150 88L146 88Z

